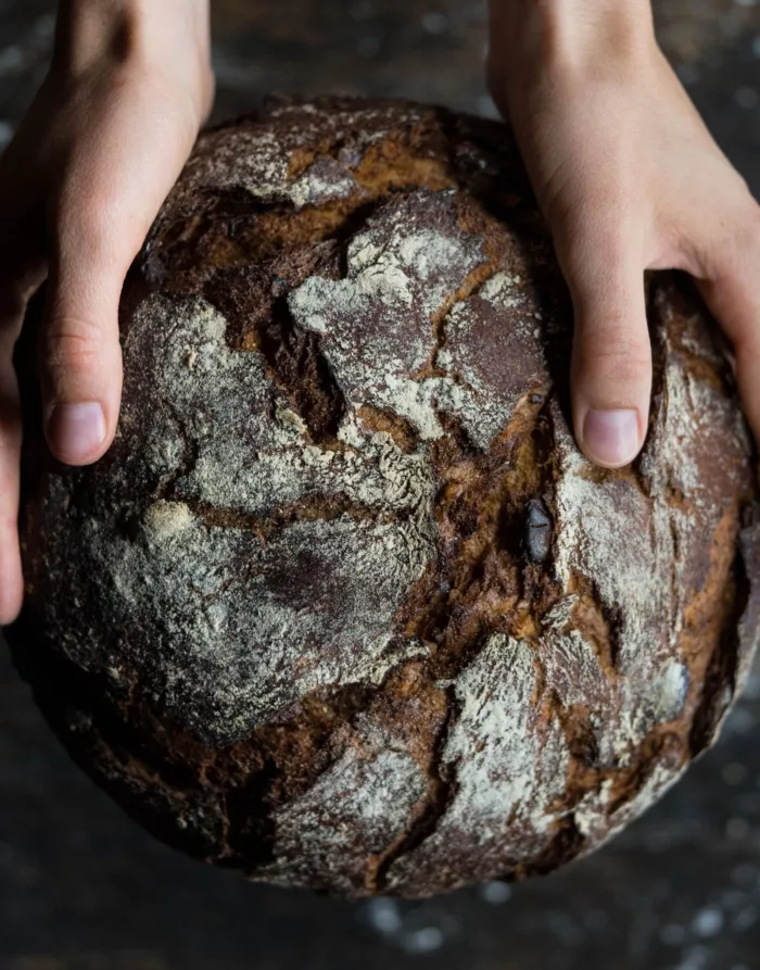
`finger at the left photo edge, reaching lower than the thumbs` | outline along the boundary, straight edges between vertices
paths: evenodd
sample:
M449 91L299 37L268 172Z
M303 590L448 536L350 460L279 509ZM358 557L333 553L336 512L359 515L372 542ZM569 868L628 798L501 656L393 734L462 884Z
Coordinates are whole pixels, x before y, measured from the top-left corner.
M18 549L21 407L12 342L0 336L0 626L21 609L23 579Z

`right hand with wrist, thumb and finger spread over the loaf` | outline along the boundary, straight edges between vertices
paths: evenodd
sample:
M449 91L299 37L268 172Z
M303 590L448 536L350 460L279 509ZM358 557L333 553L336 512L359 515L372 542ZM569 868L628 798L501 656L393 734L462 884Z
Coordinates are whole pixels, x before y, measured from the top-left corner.
M572 295L584 453L619 467L646 434L645 269L695 277L760 441L760 207L659 50L649 0L492 0L489 80Z

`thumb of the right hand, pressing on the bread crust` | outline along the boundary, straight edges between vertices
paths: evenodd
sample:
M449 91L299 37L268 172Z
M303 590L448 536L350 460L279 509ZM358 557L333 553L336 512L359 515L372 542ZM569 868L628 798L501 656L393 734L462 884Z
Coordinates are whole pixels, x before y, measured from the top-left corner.
M592 462L619 468L641 451L651 394L642 248L633 227L604 225L582 227L565 244L560 235L559 242L575 314L575 438Z

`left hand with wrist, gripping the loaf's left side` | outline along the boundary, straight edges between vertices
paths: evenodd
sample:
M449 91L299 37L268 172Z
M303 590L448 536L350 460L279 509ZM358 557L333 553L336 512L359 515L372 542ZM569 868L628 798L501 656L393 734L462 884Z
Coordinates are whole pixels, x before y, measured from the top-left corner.
M0 625L21 607L21 414L12 364L46 276L46 433L97 461L118 418L118 302L213 100L208 0L63 0L55 53L0 158Z

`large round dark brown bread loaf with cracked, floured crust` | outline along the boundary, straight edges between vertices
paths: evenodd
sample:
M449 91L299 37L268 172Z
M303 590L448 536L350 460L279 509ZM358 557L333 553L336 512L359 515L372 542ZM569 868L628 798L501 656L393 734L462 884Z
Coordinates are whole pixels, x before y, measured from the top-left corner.
M605 471L503 126L328 99L204 134L125 289L114 446L26 450L11 637L74 757L170 844L354 897L639 815L760 618L731 367L684 279L647 286L648 440Z

